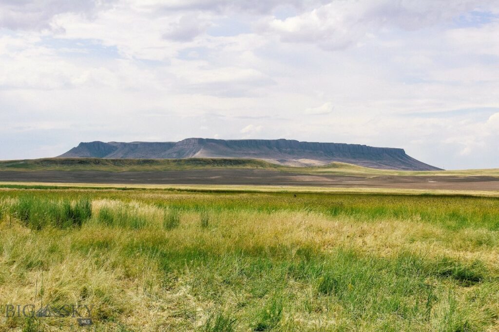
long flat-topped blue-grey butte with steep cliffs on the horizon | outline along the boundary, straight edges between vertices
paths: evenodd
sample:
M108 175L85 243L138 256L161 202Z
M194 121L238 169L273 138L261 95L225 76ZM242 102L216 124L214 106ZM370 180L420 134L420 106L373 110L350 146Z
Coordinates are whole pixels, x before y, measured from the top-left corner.
M252 158L286 165L323 165L334 161L397 170L439 170L408 156L403 149L359 144L299 142L289 139L187 138L179 142L80 143L59 157L97 158Z

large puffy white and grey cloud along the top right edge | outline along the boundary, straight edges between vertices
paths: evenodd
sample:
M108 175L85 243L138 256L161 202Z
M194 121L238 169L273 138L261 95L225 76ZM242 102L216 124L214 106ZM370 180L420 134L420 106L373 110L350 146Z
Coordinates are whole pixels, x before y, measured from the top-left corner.
M490 7L498 0L484 1ZM284 42L314 43L341 50L383 28L417 30L444 24L477 7L475 0L358 0L331 1L296 16L273 17L260 27Z

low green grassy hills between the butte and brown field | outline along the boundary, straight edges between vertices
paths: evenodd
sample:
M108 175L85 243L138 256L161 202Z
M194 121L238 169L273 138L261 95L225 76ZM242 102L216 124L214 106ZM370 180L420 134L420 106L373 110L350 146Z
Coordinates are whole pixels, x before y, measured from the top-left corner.
M273 170L302 175L342 176L456 176L499 177L499 169L470 169L448 171L400 171L368 168L333 162L322 166L287 166L256 159L184 158L184 159L109 159L109 158L41 158L1 160L2 171L104 171L104 172L163 172L187 170L249 169Z

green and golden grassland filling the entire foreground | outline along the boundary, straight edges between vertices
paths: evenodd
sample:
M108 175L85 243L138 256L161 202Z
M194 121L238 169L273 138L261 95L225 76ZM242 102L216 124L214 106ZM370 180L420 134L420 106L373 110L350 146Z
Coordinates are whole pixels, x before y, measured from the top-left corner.
M92 331L498 331L498 232L492 197L3 189L0 304L92 305Z

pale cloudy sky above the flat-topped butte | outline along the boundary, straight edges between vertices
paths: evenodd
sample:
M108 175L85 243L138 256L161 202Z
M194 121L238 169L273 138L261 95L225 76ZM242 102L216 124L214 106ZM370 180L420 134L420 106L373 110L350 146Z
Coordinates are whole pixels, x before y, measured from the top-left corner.
M0 0L0 159L188 137L499 168L499 0Z

